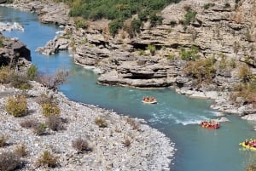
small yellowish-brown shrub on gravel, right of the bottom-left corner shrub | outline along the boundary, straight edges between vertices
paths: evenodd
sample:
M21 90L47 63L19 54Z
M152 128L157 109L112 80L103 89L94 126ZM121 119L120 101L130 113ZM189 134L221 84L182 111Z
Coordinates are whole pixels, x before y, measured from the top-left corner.
M49 151L44 151L43 154L38 159L39 166L47 166L50 168L55 168L58 164L58 158L51 154Z

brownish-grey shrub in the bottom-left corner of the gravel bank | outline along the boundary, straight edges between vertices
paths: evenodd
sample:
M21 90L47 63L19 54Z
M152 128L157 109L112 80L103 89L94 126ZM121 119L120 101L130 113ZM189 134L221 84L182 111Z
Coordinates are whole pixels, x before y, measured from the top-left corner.
M15 171L21 164L20 157L14 152L4 151L0 154L0 170Z

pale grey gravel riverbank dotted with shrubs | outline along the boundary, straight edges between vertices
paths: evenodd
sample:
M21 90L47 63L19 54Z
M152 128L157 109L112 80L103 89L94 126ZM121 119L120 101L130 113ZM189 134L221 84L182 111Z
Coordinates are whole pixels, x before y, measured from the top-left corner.
M24 94L15 88L0 86L0 129L1 135L8 137L3 151L14 151L18 145L25 145L28 156L22 157L25 166L21 170L42 170L38 158L43 151L51 151L58 157L58 166L50 170L170 170L175 152L174 144L143 120L119 115L94 105L84 105L68 100L61 93L53 93L39 83L26 91L28 115L13 117L5 111L9 96ZM47 93L48 92L48 93ZM61 109L61 130L47 129L47 134L37 135L31 128L23 128L20 123L35 119L45 123L38 98L48 94L57 101ZM102 118L106 128L96 124ZM89 143L92 151L78 153L73 141L82 138ZM131 144L127 145L125 141ZM47 168L48 169L48 168Z

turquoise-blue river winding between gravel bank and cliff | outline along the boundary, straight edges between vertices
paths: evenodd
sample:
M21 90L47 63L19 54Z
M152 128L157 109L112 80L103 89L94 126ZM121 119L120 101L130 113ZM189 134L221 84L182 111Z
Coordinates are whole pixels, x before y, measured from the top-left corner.
M5 31L3 34L19 37L26 43L38 71L51 74L64 67L71 72L68 82L60 88L69 99L143 118L151 127L166 134L177 149L171 170L241 171L256 158L256 151L245 151L238 145L247 138L256 138L255 122L225 115L230 122L222 123L218 130L201 128L196 123L217 117L218 111L210 109L211 100L191 99L169 88L138 90L98 85L98 76L94 72L73 64L71 52L45 56L35 51L55 37L61 30L59 27L40 24L36 14L5 7L0 7L0 22L19 22L25 28L23 32ZM146 95L156 97L158 104L143 104L141 100Z

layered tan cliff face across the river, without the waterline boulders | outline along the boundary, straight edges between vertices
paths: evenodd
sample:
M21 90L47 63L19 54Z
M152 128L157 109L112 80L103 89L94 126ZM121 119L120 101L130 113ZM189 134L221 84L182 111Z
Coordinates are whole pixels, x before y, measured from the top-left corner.
M214 5L206 8L207 3ZM228 3L230 6L226 7ZM184 20L186 6L197 14L195 22L184 29L179 21ZM163 25L151 28L145 23L141 33L133 38L125 35L124 31L119 31L117 37L110 37L104 32L108 25L99 26L97 22L93 22L89 29L78 34L83 35L87 43L77 46L74 60L81 66L101 67L103 71L99 83L105 84L109 80L109 84L139 88L189 85L199 90L201 86L196 86L183 73L186 62L167 60L166 57L172 55L174 59L178 59L181 48L195 45L201 51L201 58L215 56L219 61L225 56L237 63L246 62L255 66L255 11L255 2L252 0L237 4L233 1L182 1L169 5L161 12ZM75 39L79 44L81 38ZM154 55L147 52L146 48L150 44L156 47ZM147 55L140 55L139 49ZM120 60L121 52L125 52L125 56L132 62ZM110 70L115 70L114 81L113 78L110 79L110 75L113 77L113 71ZM239 82L234 70L217 70L213 79L213 83L217 85L215 88L230 88Z

